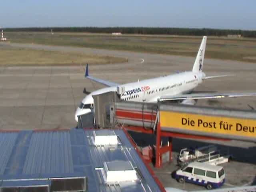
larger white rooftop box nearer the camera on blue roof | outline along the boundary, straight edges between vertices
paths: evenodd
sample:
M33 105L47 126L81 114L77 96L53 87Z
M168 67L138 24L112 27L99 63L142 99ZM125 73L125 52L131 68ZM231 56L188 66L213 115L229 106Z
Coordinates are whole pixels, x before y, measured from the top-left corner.
M103 163L107 183L134 182L138 180L130 161L116 160Z

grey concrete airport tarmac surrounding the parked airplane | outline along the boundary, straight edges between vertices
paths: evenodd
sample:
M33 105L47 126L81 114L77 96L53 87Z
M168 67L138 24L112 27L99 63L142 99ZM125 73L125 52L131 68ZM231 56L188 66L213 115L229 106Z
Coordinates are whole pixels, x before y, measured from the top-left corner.
M174 73L177 70L192 70L195 59L195 57L35 44L0 43L0 46L59 50L62 52L85 52L127 58L128 62L122 64L89 65L91 75L118 83L162 76ZM203 71L206 75L234 74L235 76L205 81L197 88L197 91L255 92L254 76L256 64L254 63L205 59ZM84 68L81 66L1 67L0 129L73 128L76 126L74 112L85 96L83 94L84 87L88 91L93 91L103 86L86 80L84 78ZM250 109L248 104L256 107L256 97L198 102L198 105L204 106ZM174 156L180 148L190 145L190 142L188 140L175 139ZM239 161L225 165L231 175L227 180L227 184L241 186L253 182L256 172L256 158L254 155L256 145L246 142L218 143L232 147L231 150L239 155ZM198 143L193 144L196 145ZM202 143L199 142L200 144ZM243 158L246 159L246 163L242 163ZM174 168L175 164L170 164L162 169L155 170L164 186L179 187L186 190L203 189L192 184L185 184L184 186L178 184L174 179L170 178L170 170L174 170ZM238 181L236 174L240 175L244 180Z

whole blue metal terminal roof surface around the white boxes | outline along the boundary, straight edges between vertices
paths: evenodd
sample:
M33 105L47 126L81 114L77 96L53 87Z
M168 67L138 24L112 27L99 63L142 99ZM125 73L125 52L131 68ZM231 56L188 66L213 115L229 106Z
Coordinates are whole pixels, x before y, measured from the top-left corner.
M100 134L118 135L121 144L116 150L109 150L108 146L94 146L93 132L94 130L70 130L0 133L0 150L5 154L0 156L0 179L7 185L10 179L86 176L88 191L92 192L160 191L122 130L96 130ZM103 167L104 162L112 160L129 160L141 173L140 181L106 184L100 171L95 168ZM9 184L19 185L20 181Z

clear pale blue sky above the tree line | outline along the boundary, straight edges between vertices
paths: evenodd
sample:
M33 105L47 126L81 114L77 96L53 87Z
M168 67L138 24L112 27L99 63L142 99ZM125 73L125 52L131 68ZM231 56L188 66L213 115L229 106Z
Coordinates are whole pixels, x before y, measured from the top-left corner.
M0 27L256 30L256 0L1 0Z

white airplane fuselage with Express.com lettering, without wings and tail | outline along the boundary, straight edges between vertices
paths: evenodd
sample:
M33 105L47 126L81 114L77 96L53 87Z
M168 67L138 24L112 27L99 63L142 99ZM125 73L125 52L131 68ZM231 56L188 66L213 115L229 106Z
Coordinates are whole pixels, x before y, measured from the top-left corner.
M124 87L125 93L121 94L121 100L134 102L157 102L160 96L186 94L194 90L202 82L203 72L182 72L148 80L141 80L119 85ZM117 87L107 87L88 94L76 110L75 119L78 116L91 112L94 106L92 95L116 91Z

